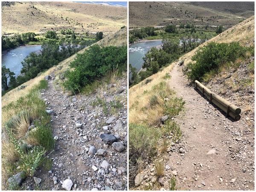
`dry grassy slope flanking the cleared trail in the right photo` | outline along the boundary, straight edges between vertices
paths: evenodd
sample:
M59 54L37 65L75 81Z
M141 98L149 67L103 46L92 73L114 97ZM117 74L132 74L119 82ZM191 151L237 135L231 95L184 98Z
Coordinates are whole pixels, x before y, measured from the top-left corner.
M184 54L178 59L184 60L183 69L186 69L192 62L192 56L201 47L213 41L216 43L238 41L243 47L254 47L254 16ZM184 102L183 98L177 97L175 90L169 84L172 78L175 78L170 76L169 72L173 70L176 63L177 61L173 62L129 89L129 178L130 187L135 187L134 189L151 189L151 186L138 187L141 183L138 184L138 178L140 175L144 177L147 163L155 164L157 178L163 177L164 155L159 154L166 151L170 138L173 143L182 140L183 133L180 125L175 121L179 113L183 111ZM177 65L175 67L181 68ZM249 127L254 126L250 118L245 118L245 116L254 116L253 54L248 53L246 57L238 58L235 62L224 62L204 84L225 99L235 102L241 108L241 115L246 119L246 124ZM169 116L169 119L166 120L165 116ZM175 156L172 157L175 158ZM153 189L159 189L161 186L155 185L154 187ZM174 187L170 189L175 189L175 181Z

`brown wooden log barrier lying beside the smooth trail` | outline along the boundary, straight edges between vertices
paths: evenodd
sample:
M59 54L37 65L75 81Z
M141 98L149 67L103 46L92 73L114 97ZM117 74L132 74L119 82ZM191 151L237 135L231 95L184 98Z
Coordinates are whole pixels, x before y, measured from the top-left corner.
M241 116L239 115L241 113L241 109L238 108L236 105L233 105L232 103L213 93L197 80L195 80L195 87L201 93L203 93L203 95L206 96L207 99L210 100L210 102L214 103L218 108L221 108L222 111L227 113L227 116L231 116L236 121L241 118Z

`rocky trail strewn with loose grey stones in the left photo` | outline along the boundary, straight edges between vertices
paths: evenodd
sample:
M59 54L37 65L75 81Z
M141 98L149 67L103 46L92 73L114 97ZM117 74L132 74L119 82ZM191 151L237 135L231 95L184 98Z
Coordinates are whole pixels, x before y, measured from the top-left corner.
M55 148L48 154L52 168L34 175L41 179L39 186L33 177L26 179L25 186L28 190L127 190L126 79L90 96L68 96L54 79L51 74L41 93L52 116ZM101 105L92 105L98 94L107 108L116 97L123 99L122 106L115 114L105 114Z

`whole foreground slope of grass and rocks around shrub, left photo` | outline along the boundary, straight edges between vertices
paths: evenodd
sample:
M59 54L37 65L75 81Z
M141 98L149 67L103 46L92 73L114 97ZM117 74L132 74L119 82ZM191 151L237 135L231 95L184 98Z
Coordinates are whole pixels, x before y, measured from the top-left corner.
M106 67L116 59L111 60L108 55L119 55L118 61L123 63L118 66L122 70L115 66L115 70L105 71L104 76L84 86L82 93L72 95L64 89L63 82L69 78L66 72L70 62L79 61L73 55L37 79L26 82L30 86L26 90L17 89L16 99L5 103L3 189L127 189L127 79L122 68L126 66L127 51L115 53L124 49L123 45L126 47L126 33L122 29L97 42L105 48L94 45L80 52L86 55L93 47L98 49L103 54L103 59L98 61ZM85 71L89 70L93 73L93 68ZM19 112L26 109L29 117L20 118ZM6 182L8 178L11 179Z

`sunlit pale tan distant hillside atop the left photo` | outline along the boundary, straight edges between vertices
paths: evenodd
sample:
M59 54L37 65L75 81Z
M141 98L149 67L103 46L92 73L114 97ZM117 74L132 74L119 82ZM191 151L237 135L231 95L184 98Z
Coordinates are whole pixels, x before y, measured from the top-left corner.
M2 33L116 32L126 25L126 8L73 2L2 3ZM29 26L29 28L27 27Z

